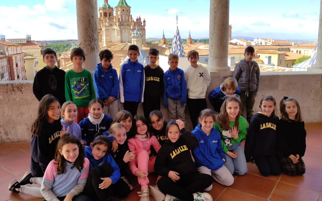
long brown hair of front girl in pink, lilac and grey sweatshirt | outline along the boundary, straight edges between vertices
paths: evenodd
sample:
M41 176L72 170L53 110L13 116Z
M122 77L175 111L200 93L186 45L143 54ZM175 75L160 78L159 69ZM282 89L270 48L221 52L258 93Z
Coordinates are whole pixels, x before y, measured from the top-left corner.
M77 144L78 146L78 157L75 160L74 164L71 166L71 169L76 167L76 169L78 169L78 171L81 172L81 170L83 169L83 164L84 164L84 158L85 158L85 153L84 153L84 149L81 145L81 142L79 139L77 139L77 137L75 137L74 135L70 134L70 133L66 133L64 134L58 141L57 143L57 148L56 148L56 152L55 152L55 164L57 164L57 174L64 174L66 172L66 159L64 158L64 156L59 152L59 150L62 151L62 147L65 144Z

